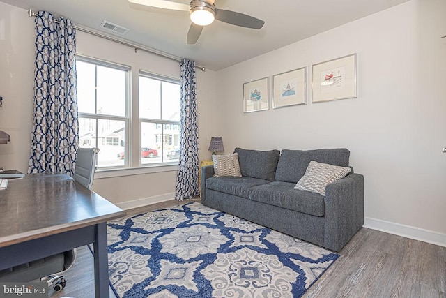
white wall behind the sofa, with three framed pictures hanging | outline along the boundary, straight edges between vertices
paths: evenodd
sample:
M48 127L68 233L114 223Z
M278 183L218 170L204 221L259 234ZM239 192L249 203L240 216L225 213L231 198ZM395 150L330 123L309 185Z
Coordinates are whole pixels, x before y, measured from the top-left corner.
M443 0L409 1L220 70L227 151L346 147L368 226L446 246L445 12ZM312 104L312 64L352 53L357 98ZM243 113L244 82L303 66L307 105Z

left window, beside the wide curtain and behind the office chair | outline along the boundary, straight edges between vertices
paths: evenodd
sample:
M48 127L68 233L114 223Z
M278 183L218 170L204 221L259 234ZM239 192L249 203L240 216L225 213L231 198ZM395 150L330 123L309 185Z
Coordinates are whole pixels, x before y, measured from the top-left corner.
M76 71L80 146L100 149L98 167L128 165L130 68L76 57Z

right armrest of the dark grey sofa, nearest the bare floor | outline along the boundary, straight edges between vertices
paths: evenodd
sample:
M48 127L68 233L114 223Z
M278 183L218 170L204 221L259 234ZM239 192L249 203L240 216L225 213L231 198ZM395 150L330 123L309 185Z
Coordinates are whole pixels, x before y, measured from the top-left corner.
M348 176L325 188L325 247L340 251L364 225L364 176Z

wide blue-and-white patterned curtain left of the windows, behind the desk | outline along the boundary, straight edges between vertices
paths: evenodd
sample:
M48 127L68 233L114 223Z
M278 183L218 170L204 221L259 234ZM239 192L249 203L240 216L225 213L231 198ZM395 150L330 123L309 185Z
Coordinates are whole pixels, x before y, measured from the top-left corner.
M75 35L70 20L38 13L29 173L74 172L79 143Z

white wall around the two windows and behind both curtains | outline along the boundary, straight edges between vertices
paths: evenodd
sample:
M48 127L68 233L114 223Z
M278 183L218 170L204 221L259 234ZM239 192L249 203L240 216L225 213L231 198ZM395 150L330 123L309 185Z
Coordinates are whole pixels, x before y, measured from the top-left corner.
M22 172L28 170L31 144L34 40L34 19L27 15L26 10L0 2L0 96L5 98L3 110L0 110L0 129L11 135L10 144L0 146L0 166ZM135 53L131 47L82 31L77 31L77 54L132 66L132 80L137 80L139 68L180 78L177 61L143 51ZM137 90L134 92L137 94ZM207 148L216 126L211 121L210 112L215 110L214 97L215 72L197 69L199 147L203 159L210 156ZM133 125L138 126L137 122ZM138 155L137 150L134 147L132 154ZM93 191L124 208L174 198L177 167L152 168L142 172L149 173L108 177L109 173L98 172Z

